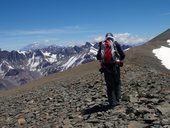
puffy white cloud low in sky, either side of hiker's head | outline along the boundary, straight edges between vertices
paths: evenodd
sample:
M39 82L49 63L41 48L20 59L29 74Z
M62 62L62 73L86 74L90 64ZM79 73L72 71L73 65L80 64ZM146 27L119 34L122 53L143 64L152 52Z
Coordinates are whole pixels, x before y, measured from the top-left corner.
M148 39L146 38L142 38L137 35L132 35L131 33L117 33L113 35L116 41L123 44L137 45L148 41ZM98 36L94 38L94 41L102 41L104 39L104 36Z

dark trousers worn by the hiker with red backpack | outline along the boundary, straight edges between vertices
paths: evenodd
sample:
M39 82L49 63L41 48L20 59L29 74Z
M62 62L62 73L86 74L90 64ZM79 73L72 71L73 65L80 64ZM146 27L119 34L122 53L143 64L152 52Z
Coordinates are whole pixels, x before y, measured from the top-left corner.
M107 86L109 104L116 105L121 97L120 67L118 65L106 66L104 78Z

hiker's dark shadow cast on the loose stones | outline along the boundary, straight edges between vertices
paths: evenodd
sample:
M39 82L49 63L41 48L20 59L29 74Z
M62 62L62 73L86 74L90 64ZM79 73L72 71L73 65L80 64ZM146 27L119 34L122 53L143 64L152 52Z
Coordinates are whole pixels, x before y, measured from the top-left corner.
M103 105L103 104L99 104L99 105L95 105L93 107L89 107L89 108L85 108L81 111L81 113L83 115L86 114L92 114L92 113L97 113L97 112L106 112L107 110L112 109L109 105Z

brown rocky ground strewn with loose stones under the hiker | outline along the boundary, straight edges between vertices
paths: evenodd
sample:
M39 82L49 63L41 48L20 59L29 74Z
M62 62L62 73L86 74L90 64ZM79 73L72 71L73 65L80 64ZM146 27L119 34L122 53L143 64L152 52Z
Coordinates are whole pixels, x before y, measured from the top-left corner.
M170 127L169 73L125 64L121 104L109 109L98 68L92 62L1 92L0 127Z

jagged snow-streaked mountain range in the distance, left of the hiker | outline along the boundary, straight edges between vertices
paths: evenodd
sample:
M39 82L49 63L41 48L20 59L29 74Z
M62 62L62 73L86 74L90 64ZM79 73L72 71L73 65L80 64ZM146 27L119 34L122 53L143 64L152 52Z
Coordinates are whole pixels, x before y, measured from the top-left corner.
M130 47L122 46L124 49ZM82 46L40 46L32 44L24 51L0 50L0 89L24 85L34 79L62 72L96 59L98 43Z

